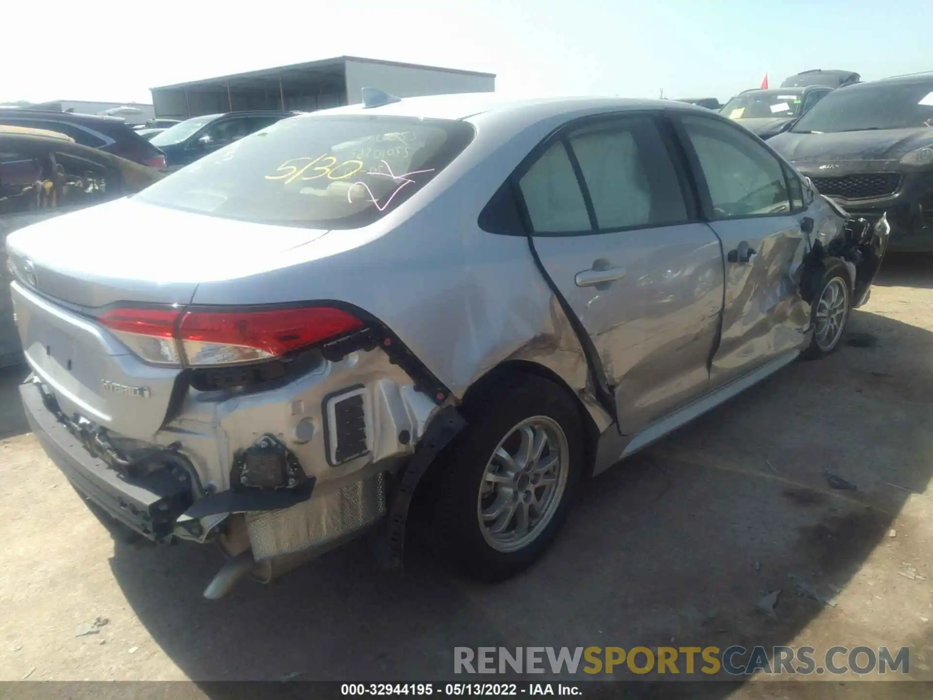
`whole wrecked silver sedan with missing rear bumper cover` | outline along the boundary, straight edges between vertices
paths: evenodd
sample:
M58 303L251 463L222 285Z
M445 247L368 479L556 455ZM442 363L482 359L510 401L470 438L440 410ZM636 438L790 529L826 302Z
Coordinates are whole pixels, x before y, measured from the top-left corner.
M502 579L836 349L887 233L699 107L369 91L10 235L21 397L104 521L220 542L209 597L363 532L397 565L410 510Z

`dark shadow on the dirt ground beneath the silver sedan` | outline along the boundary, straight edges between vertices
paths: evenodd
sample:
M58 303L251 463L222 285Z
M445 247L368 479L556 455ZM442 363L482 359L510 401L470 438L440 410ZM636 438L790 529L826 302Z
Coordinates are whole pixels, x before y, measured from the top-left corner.
M464 680L457 646L788 644L826 610L795 581L843 588L930 478L933 337L870 307L851 323L877 342L795 363L593 480L515 580L454 578L416 546L387 575L361 542L216 602L201 596L222 563L209 549L117 544L113 573L195 680ZM772 618L756 604L775 590Z

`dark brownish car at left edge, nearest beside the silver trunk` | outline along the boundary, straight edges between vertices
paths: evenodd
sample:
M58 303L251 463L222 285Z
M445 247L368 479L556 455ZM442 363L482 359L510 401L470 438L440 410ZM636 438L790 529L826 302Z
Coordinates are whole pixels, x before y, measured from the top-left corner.
M138 192L161 177L154 168L80 146L63 133L0 125L0 367L21 359L9 296L7 234Z

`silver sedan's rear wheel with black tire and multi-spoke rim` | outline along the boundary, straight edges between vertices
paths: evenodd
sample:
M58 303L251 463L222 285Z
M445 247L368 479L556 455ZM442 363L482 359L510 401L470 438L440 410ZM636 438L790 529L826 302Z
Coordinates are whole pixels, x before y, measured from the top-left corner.
M470 578L501 581L530 566L564 525L584 463L574 399L512 374L463 409L467 427L439 460L436 544Z

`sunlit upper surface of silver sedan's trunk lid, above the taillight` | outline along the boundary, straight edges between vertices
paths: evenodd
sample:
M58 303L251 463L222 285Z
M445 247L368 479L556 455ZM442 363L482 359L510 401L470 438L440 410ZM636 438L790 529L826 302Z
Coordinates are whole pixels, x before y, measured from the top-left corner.
M327 233L191 214L122 199L14 231L20 278L83 307L186 304L202 280L248 275Z

